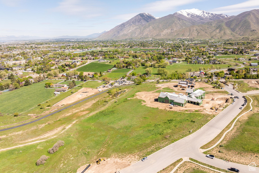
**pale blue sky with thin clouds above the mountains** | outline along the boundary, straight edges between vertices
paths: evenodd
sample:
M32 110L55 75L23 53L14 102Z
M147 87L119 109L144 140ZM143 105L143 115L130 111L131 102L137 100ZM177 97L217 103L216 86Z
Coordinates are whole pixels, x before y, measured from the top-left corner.
M259 9L259 0L0 0L0 36L86 36L141 12L163 17L192 8L238 15Z

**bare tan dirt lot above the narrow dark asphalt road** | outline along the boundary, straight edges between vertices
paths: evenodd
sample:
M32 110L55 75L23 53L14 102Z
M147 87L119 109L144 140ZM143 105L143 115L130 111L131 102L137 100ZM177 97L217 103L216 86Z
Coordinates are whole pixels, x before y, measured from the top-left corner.
M98 93L98 89L88 89L84 88L82 91L77 92L74 95L69 96L68 98L62 100L61 102L57 103L55 106L61 106L61 105L68 105L70 103L73 103L75 101L81 100L83 98L86 98L90 95Z

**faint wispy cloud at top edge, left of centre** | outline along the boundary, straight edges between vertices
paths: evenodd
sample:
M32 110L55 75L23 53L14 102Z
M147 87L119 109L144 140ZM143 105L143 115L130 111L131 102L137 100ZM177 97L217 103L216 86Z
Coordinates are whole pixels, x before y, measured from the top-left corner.
M100 7L94 6L92 2L93 1L63 0L54 10L66 15L81 16L83 18L100 16Z

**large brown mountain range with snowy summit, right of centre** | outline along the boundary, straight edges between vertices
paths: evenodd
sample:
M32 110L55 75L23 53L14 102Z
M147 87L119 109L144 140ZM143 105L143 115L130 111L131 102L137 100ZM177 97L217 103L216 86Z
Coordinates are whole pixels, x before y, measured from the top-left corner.
M127 22L101 34L97 39L258 37L258 23L259 10L246 11L237 16L228 16L190 9L177 11L160 18L149 13L140 13Z

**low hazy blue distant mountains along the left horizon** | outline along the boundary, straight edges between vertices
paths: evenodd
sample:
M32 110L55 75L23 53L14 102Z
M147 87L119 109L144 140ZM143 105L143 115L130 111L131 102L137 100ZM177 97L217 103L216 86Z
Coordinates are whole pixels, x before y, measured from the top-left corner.
M59 37L37 37L37 36L0 36L0 41L7 41L7 40L42 40L42 39L71 39L71 38L97 38L101 34L105 33L97 32L90 34L88 36L59 36Z

